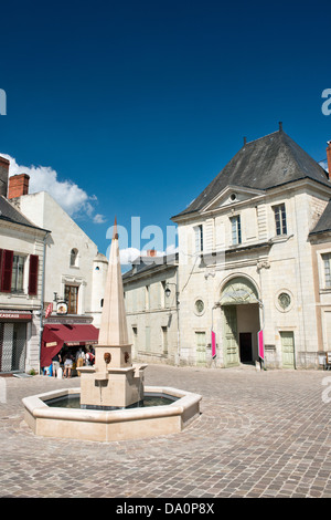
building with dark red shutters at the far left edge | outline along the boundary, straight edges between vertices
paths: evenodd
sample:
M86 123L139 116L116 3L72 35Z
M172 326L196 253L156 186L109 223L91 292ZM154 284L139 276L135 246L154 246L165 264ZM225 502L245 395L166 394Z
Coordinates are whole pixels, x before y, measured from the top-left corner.
M50 233L7 200L8 170L0 157L0 373L21 373L39 371Z

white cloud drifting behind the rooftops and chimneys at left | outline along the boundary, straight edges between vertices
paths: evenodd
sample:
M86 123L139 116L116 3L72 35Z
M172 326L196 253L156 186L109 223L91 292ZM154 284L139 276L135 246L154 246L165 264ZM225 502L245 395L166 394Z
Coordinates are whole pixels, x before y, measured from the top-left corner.
M57 173L51 166L21 166L7 154L0 154L10 160L9 176L28 174L30 176L29 193L47 191L60 206L73 218L89 217L95 223L106 221L103 215L94 215L92 202L97 202L95 195L89 196L72 180L58 180Z

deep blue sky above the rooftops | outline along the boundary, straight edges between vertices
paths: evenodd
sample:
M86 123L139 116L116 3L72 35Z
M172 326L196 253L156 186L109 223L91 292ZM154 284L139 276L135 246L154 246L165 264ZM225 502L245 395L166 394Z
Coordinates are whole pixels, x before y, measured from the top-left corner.
M325 158L327 2L7 2L0 45L0 153L103 253L115 215L129 237L131 217L160 227L166 249L170 217L279 121Z

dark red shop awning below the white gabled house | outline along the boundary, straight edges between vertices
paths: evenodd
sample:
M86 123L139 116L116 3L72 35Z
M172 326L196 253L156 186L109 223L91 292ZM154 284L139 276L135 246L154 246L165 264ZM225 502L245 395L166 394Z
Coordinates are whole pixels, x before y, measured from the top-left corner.
M47 324L43 330L40 364L50 366L64 343L68 346L95 344L98 336L99 330L94 325Z

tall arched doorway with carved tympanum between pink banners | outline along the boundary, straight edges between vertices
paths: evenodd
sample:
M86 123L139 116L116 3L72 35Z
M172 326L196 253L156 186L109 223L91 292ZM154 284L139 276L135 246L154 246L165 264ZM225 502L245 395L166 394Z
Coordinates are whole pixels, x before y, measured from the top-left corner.
M221 292L223 315L223 358L225 366L258 360L257 333L260 329L259 298L245 277L228 280Z

